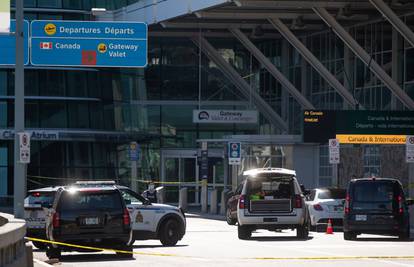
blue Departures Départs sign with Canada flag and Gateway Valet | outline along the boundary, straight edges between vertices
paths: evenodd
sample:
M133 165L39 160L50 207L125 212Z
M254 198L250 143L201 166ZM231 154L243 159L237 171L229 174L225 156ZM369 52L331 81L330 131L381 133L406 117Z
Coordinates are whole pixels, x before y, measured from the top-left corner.
M147 25L37 20L31 47L34 66L145 67Z

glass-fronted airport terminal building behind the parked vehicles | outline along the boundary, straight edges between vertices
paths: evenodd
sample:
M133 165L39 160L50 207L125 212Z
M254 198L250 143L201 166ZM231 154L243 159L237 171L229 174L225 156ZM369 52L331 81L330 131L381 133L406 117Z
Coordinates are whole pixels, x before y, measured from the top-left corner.
M172 203L180 187L199 203L203 143L208 185L219 190L252 167L295 169L307 187L372 174L407 186L414 176L403 144L342 145L334 175L328 140L305 142L303 130L306 110L414 109L412 1L26 0L25 17L146 22L149 36L146 68L26 67L28 189L72 179L129 185L133 141L139 180L179 182L165 184ZM3 206L13 203L13 102L14 69L1 67ZM200 111L257 118L215 123ZM240 165L228 164L231 141L242 144Z

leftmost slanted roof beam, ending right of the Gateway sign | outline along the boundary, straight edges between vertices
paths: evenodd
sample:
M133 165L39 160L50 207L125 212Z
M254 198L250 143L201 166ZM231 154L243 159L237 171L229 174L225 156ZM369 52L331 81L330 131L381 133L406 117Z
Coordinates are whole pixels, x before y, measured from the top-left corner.
M240 93L246 98L252 98L256 108L263 116L282 132L288 131L287 123L276 113L276 111L240 76L240 74L217 52L217 50L203 37L194 36L191 40L200 50L213 61L223 72L223 74L239 89Z

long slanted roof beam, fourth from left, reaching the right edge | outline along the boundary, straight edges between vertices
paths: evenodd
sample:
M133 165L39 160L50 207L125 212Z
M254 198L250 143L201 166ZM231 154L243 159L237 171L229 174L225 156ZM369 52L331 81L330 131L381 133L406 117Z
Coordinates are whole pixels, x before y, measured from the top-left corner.
M364 64L381 80L388 89L410 110L414 110L414 101L401 87L385 72L381 66L368 54L354 38L329 14L326 9L316 7L313 9L321 19L332 28L339 38L358 56Z

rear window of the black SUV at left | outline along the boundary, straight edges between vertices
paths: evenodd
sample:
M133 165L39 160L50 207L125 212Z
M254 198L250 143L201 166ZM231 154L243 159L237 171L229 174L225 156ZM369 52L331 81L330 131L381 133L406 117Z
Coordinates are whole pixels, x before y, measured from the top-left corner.
M121 198L116 192L63 192L59 204L61 211L122 209Z

